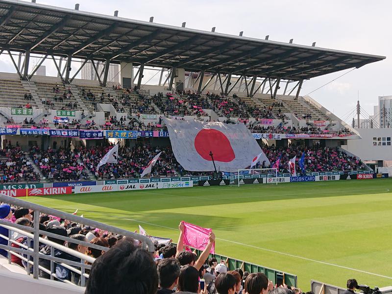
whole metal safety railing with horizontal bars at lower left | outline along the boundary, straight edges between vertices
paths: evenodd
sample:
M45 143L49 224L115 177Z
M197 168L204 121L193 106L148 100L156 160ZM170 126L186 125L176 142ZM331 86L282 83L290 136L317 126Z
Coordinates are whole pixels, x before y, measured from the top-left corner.
M122 235L124 237L131 237L135 240L139 240L140 242L142 242L142 248L148 249L149 252L154 252L154 245L152 241L148 237L143 235L139 235L98 221L93 221L86 218L78 217L72 214L68 214L62 211L58 211L52 208L30 203L21 199L12 198L9 196L0 195L0 202L31 209L34 211L33 227L22 226L9 221L0 220L0 226L5 229L8 229L8 236L4 236L0 234L0 238L5 239L7 241L7 245L0 244L0 249L3 249L8 252L8 263L11 263L12 256L16 256L20 258L25 264L25 269L27 274L30 275L32 273L33 277L36 279L39 278L40 271L41 271L41 275L46 274L52 280L57 279L59 281L63 281L69 284L75 284L76 282L76 284L79 284L80 286L84 287L86 283L86 278L89 277L86 270L87 271L90 270L91 264L93 264L95 261L94 258L88 255L82 254L76 250L57 244L50 240L44 239L40 237L40 235L42 236L45 235L54 239L59 239L67 242L68 244L73 243L73 244L83 245L83 246L87 246L103 251L107 251L109 249L106 247L90 244L79 240L74 240L69 237L63 237L60 235L56 235L50 232L40 230L39 219L41 213L52 215L64 220L76 222L78 224L99 228L101 230ZM22 243L17 241L19 240L19 238L17 240L14 240L12 238L12 232L16 232L19 234L19 236L24 237ZM12 244L17 245L19 248L12 246ZM50 255L40 252L40 246L49 246ZM56 257L55 253L58 251L73 256L73 261ZM74 261L74 259L80 259L80 262ZM40 265L39 262L42 260L49 261L50 267L45 268L44 266ZM68 279L62 278L61 275L58 274L64 269L66 272L68 270L71 271L72 273L71 275L75 277L73 282L69 281Z

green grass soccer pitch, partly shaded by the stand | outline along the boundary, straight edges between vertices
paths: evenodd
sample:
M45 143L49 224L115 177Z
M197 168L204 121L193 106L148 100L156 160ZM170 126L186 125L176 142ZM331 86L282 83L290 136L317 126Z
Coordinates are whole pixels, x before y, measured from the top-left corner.
M216 253L345 287L392 285L392 179L196 187L29 197L134 231L178 239L178 223L212 228Z

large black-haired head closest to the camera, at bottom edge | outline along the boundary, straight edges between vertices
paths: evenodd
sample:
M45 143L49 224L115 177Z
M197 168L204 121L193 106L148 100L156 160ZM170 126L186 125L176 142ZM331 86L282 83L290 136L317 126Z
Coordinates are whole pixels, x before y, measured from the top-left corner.
M156 294L158 272L152 255L123 240L93 264L85 294Z

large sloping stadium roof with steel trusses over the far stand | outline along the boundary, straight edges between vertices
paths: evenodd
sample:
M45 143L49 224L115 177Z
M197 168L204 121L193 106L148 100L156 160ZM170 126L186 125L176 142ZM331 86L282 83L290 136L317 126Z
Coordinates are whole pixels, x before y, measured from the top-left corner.
M309 79L385 59L0 0L0 48L187 71Z

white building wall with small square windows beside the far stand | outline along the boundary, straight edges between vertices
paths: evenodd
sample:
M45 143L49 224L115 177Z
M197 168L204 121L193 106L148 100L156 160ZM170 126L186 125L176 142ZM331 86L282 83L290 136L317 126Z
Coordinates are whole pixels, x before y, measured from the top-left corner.
M343 149L358 155L362 160L392 160L392 143L391 145L382 145L383 138L392 140L392 128L381 129L356 129L362 139L347 140L347 145ZM376 138L376 141L373 141ZM378 141L381 138L381 141ZM376 146L373 145L376 142ZM378 145L381 142L381 146ZM388 142L388 141L384 141ZM391 141L390 141L391 142Z

